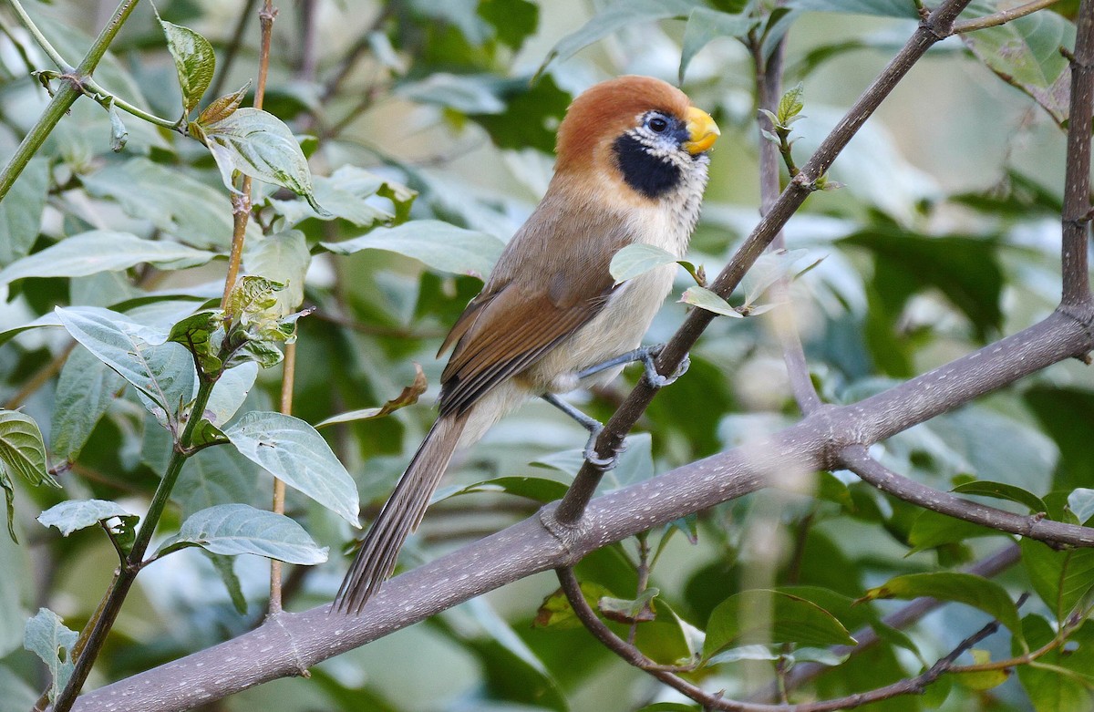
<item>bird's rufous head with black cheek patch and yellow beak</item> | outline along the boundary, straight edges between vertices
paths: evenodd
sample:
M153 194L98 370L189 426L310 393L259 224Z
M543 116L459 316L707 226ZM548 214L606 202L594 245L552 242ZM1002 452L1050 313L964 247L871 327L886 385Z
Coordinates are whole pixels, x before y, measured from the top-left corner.
M619 77L582 93L558 128L556 173L626 186L641 200L706 183L718 125L687 95L651 77ZM701 190L701 187L700 187Z

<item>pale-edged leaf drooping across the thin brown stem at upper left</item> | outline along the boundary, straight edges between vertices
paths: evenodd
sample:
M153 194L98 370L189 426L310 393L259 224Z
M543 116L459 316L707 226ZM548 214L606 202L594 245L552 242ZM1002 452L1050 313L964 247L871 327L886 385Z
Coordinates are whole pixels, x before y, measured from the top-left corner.
M193 126L193 125L191 125ZM212 152L224 187L235 191L232 172L288 188L303 196L316 212L326 211L312 195L312 172L292 131L278 117L253 107L199 125L200 138Z

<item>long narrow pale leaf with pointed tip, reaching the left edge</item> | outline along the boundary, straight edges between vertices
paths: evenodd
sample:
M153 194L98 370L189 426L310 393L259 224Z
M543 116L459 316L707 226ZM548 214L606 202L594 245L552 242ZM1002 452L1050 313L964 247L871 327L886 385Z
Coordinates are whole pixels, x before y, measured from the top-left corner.
M175 242L141 240L137 235L112 230L92 230L12 262L0 270L0 283L27 277L86 277L143 262L160 269L185 269L205 265L214 257L216 253Z

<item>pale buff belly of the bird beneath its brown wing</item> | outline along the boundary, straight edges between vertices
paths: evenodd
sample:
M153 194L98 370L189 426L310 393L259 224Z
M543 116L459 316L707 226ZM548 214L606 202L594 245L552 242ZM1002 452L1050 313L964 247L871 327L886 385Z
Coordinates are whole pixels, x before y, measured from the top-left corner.
M535 393L566 393L578 387L579 371L638 348L672 290L675 267L663 265L622 284L589 324L551 349L522 380ZM603 371L582 385L607 383L619 370Z

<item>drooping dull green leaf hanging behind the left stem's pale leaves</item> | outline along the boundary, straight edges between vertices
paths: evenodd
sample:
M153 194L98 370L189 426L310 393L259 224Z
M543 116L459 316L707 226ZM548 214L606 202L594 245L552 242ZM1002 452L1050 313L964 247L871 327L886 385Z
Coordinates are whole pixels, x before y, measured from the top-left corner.
M54 454L74 460L125 383L90 351L77 347L57 380L49 428Z

